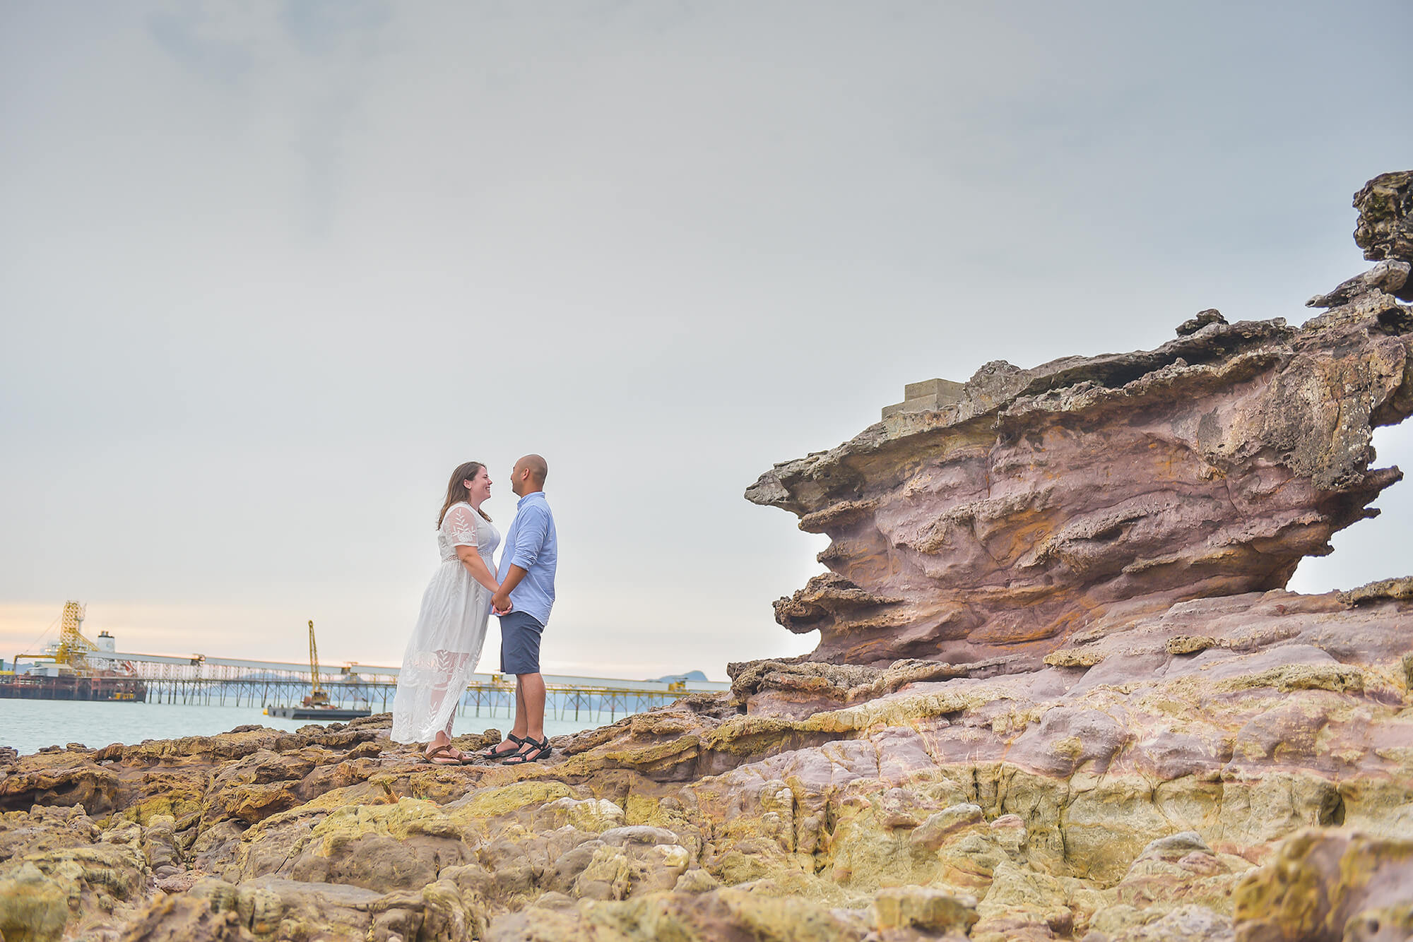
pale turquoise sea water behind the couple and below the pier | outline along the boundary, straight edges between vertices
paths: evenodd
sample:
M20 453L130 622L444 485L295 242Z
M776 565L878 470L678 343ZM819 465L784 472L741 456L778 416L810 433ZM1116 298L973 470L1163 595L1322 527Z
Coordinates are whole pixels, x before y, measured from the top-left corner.
M593 729L623 719L623 713L581 719L547 717L545 733L564 736ZM93 700L8 700L0 699L0 746L17 749L21 754L37 753L45 746L82 743L99 749L110 743L134 744L144 739L177 739L181 736L211 736L226 733L236 726L259 725L273 729L297 730L312 720L287 720L266 716L259 706L196 706L189 703L119 703ZM479 733L485 729L510 729L513 717L506 713L489 715L473 709L458 715L454 734Z

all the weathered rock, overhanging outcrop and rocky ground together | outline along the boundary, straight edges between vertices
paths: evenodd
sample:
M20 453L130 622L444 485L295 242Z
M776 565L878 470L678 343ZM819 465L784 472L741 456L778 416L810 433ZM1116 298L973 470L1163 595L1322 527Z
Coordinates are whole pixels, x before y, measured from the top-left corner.
M545 764L387 716L0 750L0 939L1402 942L1413 580L1283 589L1397 479L1379 284L989 364L777 467L753 497L835 541L779 606L820 651Z

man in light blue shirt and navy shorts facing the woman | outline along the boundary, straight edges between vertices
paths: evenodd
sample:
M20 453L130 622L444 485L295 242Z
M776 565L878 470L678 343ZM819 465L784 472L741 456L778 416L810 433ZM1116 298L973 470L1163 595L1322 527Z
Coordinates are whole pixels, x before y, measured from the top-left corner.
M490 609L500 617L500 671L516 675L516 723L510 736L486 753L506 764L536 763L550 754L544 734L544 678L540 676L540 636L554 607L554 571L560 541L554 514L544 499L548 465L526 455L510 472L510 490L520 497L506 532L496 582L500 592Z

